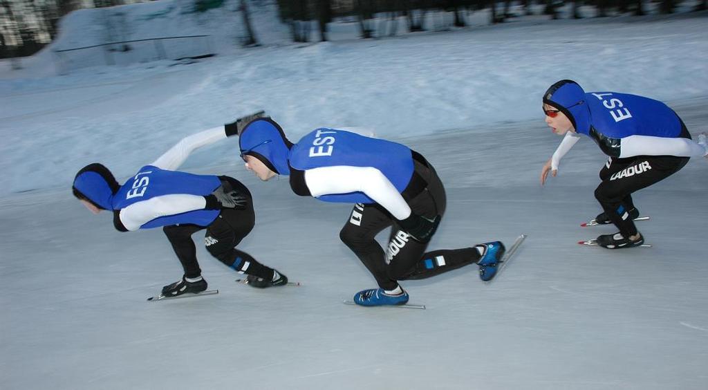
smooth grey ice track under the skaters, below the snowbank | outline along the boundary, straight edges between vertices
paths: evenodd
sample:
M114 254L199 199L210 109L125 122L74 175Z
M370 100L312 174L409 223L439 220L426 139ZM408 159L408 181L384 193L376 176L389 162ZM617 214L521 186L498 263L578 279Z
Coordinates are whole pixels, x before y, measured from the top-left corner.
M708 122L704 103L678 106L689 128ZM579 226L599 210L604 160L585 139L542 188L538 156L557 138L527 137L541 126L402 140L451 183L430 248L528 234L491 285L474 265L404 282L426 310L342 304L375 287L338 240L350 207L295 197L287 180L259 183L240 166L210 168L253 191L257 224L240 247L301 287L239 285L199 245L219 294L146 302L181 276L159 229L119 234L68 191L4 200L1 387L705 389L708 161L637 193L653 248L581 247L612 232ZM458 153L462 139L475 150ZM499 159L502 147L513 158Z

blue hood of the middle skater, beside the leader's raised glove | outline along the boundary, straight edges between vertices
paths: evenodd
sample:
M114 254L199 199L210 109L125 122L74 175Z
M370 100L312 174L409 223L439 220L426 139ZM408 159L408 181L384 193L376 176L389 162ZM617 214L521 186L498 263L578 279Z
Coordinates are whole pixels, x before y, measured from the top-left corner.
M239 134L241 157L256 157L279 175L290 175L287 156L291 147L292 142L287 140L280 125L269 117L253 120Z

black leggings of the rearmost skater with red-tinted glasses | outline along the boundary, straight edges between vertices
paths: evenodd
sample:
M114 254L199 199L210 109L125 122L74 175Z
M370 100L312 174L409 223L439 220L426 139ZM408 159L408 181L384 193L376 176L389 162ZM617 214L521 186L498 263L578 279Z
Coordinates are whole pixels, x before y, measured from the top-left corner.
M683 168L689 159L676 156L610 157L600 171L603 182L595 189L595 199L622 236L634 236L636 226L629 218L629 210L634 207L632 193L668 178Z

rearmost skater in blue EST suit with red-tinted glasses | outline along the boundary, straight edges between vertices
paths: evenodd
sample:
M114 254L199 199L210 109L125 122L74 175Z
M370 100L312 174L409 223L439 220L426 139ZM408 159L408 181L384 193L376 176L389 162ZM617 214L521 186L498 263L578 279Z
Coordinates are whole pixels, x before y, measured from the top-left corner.
M603 212L599 224L615 224L619 232L598 237L605 248L631 248L644 243L634 218L639 211L632 193L649 187L686 165L691 156L706 156L705 134L691 135L666 104L643 96L617 92L589 92L572 80L553 84L543 96L546 123L564 139L541 171L556 176L561 158L581 134L593 139L609 156L600 171L595 198Z

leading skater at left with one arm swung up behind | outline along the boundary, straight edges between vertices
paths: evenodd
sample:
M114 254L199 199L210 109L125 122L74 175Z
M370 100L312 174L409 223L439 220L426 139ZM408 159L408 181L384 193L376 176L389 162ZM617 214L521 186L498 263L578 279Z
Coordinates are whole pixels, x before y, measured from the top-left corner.
M139 168L122 185L98 163L76 173L74 196L94 214L101 210L113 213L113 225L118 231L163 227L184 269L181 280L162 289L165 297L207 289L191 238L200 230L206 230L207 251L229 268L246 274L249 285L287 284L285 275L235 248L255 222L253 200L246 186L228 176L175 171L193 150L236 134L243 121L241 118L182 139L159 159Z

